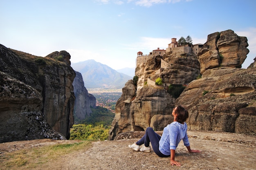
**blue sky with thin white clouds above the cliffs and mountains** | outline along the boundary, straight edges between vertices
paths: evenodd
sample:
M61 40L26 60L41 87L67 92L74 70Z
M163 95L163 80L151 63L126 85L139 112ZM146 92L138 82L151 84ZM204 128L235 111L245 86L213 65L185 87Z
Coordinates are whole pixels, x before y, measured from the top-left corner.
M255 0L0 0L0 7L0 44L43 57L65 50L72 63L135 67L138 51L188 35L204 44L227 29L248 39L242 68L256 57Z

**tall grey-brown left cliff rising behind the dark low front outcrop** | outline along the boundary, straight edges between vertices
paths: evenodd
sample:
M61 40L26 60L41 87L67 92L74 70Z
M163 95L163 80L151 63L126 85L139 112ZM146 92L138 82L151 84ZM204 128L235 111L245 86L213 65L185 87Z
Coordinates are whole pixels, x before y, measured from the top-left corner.
M0 45L0 71L36 89L41 94L42 108L39 111L44 115L44 119L53 130L68 139L70 128L74 124L75 97L72 82L75 73L70 67L69 53L61 51L51 56L57 56L56 59L62 62L50 57L37 57L10 50ZM12 108L9 109L12 113Z

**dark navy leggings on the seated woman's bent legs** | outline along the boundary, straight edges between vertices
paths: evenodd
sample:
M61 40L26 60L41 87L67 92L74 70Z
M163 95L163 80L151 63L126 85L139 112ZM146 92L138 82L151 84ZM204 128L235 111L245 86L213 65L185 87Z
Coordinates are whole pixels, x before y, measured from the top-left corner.
M146 147L149 146L149 142L151 142L152 148L154 152L159 156L159 157L169 157L170 155L164 155L162 152L159 150L159 140L161 139L161 136L158 135L153 128L148 127L146 129L145 135L139 139L139 141L136 142L137 145L142 145L144 144Z

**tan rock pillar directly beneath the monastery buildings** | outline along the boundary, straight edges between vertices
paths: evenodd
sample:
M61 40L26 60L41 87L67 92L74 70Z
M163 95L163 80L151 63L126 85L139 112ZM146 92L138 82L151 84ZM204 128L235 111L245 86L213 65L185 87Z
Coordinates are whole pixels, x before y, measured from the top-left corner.
M109 139L121 132L146 130L148 126L162 130L173 120L171 112L176 99L168 93L168 86L188 84L199 74L197 56L183 50L173 49L162 57L154 55L146 62L137 63L138 82L129 80L123 88ZM158 77L163 86L155 85Z

